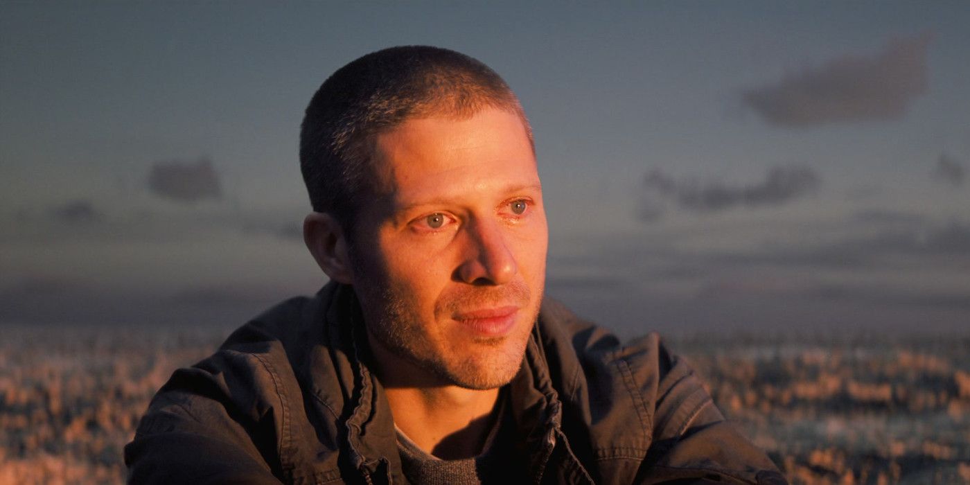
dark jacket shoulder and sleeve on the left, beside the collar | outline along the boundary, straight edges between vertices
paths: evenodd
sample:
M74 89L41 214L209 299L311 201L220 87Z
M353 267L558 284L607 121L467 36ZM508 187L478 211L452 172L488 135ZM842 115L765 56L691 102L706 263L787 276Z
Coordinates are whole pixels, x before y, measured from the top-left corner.
M210 357L174 372L125 447L129 478L178 482L210 473L235 479L243 471L266 478L292 472L289 462L300 454L295 443L308 433L294 364L306 359L309 345L300 342L322 332L321 305L320 295L282 302ZM196 450L183 452L186 447ZM229 463L240 471L225 468Z

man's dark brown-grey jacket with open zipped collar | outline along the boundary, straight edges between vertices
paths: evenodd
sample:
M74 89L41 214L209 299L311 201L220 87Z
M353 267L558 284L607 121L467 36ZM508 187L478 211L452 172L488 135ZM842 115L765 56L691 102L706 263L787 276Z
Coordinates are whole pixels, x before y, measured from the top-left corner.
M288 300L179 369L124 459L132 483L407 483L347 286ZM785 483L656 334L621 345L545 301L509 384L522 483Z

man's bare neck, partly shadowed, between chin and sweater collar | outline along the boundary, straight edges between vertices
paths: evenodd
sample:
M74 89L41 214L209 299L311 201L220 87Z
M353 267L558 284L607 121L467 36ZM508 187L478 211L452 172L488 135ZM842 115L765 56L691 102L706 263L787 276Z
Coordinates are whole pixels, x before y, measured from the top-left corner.
M370 333L377 378L394 424L427 453L444 460L481 453L499 389L475 390L447 382L388 351Z

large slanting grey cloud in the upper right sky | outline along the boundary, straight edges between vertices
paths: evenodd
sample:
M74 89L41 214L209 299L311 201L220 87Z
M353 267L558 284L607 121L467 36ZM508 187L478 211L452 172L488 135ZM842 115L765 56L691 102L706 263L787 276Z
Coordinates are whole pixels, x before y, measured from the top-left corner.
M743 101L766 121L788 127L898 118L926 90L931 40L928 33L893 39L875 56L832 59L749 89Z

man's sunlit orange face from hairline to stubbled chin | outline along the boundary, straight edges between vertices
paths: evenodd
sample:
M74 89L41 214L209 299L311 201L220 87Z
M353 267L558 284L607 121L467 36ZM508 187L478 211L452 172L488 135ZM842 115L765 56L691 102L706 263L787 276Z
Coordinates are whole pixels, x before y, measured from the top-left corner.
M548 242L522 120L415 118L375 148L387 193L363 210L351 248L374 353L442 384L504 385L538 313Z

